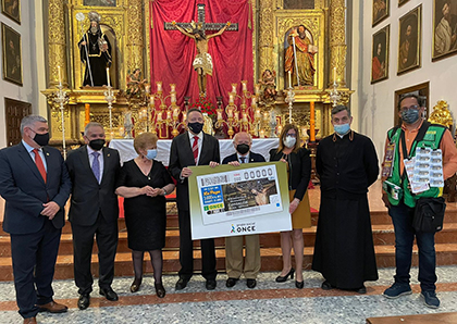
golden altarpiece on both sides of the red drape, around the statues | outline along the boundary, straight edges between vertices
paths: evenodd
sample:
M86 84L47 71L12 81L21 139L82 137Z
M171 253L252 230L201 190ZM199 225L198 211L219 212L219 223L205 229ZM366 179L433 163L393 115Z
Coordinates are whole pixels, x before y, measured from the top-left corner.
M149 28L147 28L150 21L150 1L153 0L116 0L111 1L113 4L94 7L85 4L104 2L102 0L69 0L67 2L49 0L46 48L49 80L48 89L42 94L48 99L54 141L61 141L64 134L70 145L79 142L82 130L89 117L91 121L103 124L106 129L110 129L106 88L82 87L84 64L79 60L77 43L90 23L87 18L79 22L76 18L77 13L87 16L90 11L98 12L101 16L100 27L112 46L113 64L110 67L110 78L114 98L112 109L110 109L111 136L123 136L121 128L124 125L124 113L127 109L133 111L133 117L135 121L138 120L137 124L140 124L143 102L128 100L125 89L127 75L132 71L135 68L150 71L147 59L150 57ZM305 129L308 129L310 125L310 102L314 102L316 129L319 129L317 137L329 135L333 132L330 123L332 105L336 102L347 103L353 92L345 83L345 0L251 0L251 7L255 60L252 78L258 80L265 70L276 72L275 86L279 96L262 110L274 111L276 121L282 124L289 120L285 89L288 85L287 74L284 72L284 41L291 28L304 25L311 34L317 49L316 73L312 85L294 87L295 101L292 116L294 123L302 129L301 136L307 136ZM146 78L148 78L147 73ZM69 96L64 109L59 109L54 100L60 82ZM85 108L87 103L90 104L90 115ZM64 123L62 123L62 112Z

